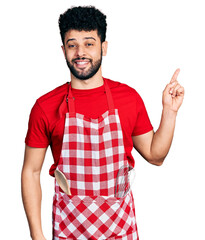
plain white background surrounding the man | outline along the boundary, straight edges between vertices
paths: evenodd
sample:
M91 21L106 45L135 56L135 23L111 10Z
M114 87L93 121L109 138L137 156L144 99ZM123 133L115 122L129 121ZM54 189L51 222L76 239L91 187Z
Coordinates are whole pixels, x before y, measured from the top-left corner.
M107 15L108 55L103 76L127 83L142 96L157 130L165 85L176 68L185 87L174 141L163 166L133 150L133 185L141 240L205 239L203 0L36 0L0 6L1 239L28 240L20 175L31 107L44 93L69 81L61 51L58 17L71 5L95 5ZM53 159L42 170L42 219L51 239ZM3 223L3 225L2 225Z

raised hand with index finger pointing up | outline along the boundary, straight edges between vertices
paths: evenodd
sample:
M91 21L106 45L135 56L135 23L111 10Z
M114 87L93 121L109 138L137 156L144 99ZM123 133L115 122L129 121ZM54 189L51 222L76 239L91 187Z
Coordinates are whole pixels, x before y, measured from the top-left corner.
M163 107L174 112L178 112L184 99L184 88L177 81L179 72L180 69L175 71L170 83L164 89L162 98Z

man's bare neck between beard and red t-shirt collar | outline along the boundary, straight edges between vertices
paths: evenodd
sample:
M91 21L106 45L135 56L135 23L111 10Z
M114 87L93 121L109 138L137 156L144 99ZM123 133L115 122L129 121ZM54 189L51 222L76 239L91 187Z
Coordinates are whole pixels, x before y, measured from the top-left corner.
M71 74L71 86L75 89L92 89L101 87L104 84L101 68L98 72L87 80L80 80Z

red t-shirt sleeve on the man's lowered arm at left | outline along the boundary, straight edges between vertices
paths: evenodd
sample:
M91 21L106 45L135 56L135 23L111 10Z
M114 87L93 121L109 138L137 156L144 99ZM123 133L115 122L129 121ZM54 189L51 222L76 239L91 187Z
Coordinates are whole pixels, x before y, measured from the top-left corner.
M36 148L46 148L50 143L48 120L38 101L30 113L25 143L29 147Z

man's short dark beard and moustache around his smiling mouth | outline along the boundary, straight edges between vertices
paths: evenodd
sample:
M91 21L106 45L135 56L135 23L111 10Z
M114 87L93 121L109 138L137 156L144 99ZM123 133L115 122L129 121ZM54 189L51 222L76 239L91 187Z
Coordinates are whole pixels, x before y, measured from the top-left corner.
M78 71L75 67L74 67L74 62L76 60L89 60L91 66L87 71ZM102 64L102 51L101 51L101 56L98 60L96 60L95 62L93 62L92 59L90 58L75 58L73 59L71 62L68 61L68 59L66 58L66 63L68 68L70 69L70 72L73 74L74 77L76 77L77 79L80 80L88 80L89 78L93 77L99 70L101 64Z

